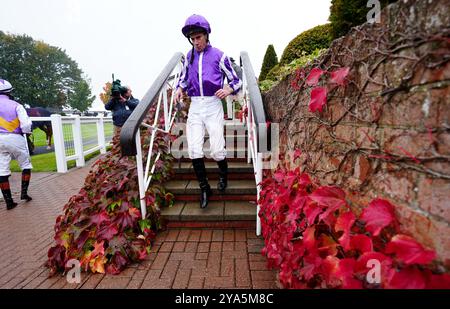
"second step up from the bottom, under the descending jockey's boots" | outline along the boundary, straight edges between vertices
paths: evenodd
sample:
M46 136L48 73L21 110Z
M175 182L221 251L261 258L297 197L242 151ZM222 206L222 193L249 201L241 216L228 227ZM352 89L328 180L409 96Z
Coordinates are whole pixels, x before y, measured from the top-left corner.
M216 189L217 182L210 181L214 195L255 195L256 184L254 180L229 180L228 187L222 194ZM170 180L164 184L167 191L176 195L199 195L201 190L197 180Z

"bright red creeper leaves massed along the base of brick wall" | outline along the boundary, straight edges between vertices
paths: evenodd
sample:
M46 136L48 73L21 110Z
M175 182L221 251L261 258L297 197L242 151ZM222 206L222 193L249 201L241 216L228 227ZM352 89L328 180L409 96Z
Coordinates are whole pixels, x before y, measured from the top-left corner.
M401 233L389 201L357 214L341 188L299 167L279 168L261 185L263 254L285 288L450 288L435 252Z

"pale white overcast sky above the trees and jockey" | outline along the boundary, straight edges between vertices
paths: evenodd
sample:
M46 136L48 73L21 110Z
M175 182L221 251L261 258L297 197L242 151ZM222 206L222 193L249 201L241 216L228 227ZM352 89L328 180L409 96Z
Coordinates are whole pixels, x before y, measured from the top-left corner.
M190 49L181 27L192 14L211 24L211 44L257 74L267 45L278 58L296 35L327 22L331 0L2 0L0 30L58 46L91 79L97 96L111 73L141 98L172 55ZM1 64L0 64L1 65Z

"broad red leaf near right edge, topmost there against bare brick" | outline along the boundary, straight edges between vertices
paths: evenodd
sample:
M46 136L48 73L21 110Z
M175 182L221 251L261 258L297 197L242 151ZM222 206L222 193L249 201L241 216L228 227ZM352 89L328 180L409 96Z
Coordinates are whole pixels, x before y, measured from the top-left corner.
M436 257L432 250L426 250L413 238L406 235L395 235L386 246L386 253L394 253L395 256L406 265L431 263Z

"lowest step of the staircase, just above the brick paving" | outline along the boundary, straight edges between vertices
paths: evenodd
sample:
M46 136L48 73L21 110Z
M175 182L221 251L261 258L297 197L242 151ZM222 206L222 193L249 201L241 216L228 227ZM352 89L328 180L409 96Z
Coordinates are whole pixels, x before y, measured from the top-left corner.
M201 209L198 202L175 202L172 207L161 209L161 216L168 222L176 221L253 221L256 220L256 204L247 201L212 201Z

